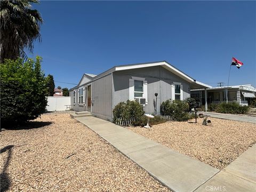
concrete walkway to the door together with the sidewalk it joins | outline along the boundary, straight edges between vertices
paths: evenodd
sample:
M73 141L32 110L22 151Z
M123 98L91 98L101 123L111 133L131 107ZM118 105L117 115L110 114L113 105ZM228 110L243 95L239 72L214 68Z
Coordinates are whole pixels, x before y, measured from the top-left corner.
M256 144L220 171L103 119L76 119L173 191L256 191Z

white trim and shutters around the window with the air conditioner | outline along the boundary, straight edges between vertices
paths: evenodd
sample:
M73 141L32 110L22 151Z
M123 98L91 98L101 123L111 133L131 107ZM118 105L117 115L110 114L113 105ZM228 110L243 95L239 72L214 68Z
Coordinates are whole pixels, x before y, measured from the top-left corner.
M143 81L143 93L142 98L146 99L146 105L148 105L148 82L143 77L133 77L129 79L129 100L134 101L134 80ZM137 98L137 97L136 97ZM140 97L138 97L140 98Z

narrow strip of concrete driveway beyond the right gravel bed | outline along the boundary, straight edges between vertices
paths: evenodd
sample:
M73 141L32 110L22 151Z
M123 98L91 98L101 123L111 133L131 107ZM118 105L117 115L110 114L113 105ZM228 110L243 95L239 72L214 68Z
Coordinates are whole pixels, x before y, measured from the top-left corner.
M204 114L205 115L210 115L211 117L215 117L215 118L229 119L229 120L249 122L249 123L256 123L256 117L253 117L253 116L221 114L221 113L214 113L214 112L204 112Z

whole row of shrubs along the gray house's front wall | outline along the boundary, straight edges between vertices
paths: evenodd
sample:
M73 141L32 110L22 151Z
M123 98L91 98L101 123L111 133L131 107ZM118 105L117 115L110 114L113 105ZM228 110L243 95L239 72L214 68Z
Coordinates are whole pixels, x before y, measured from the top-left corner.
M156 125L166 121L187 121L194 118L195 114L191 111L195 107L194 103L194 99L191 98L184 101L167 100L160 106L161 115L150 118L149 123ZM121 126L144 126L147 124L147 117L144 114L142 106L136 101L119 102L113 110L113 123Z

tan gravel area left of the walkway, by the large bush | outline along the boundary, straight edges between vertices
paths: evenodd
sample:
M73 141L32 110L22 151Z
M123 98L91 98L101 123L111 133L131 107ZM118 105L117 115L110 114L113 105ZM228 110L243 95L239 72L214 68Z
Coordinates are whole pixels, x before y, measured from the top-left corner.
M3 131L0 155L1 191L170 191L67 113Z

